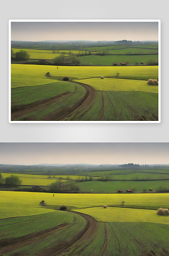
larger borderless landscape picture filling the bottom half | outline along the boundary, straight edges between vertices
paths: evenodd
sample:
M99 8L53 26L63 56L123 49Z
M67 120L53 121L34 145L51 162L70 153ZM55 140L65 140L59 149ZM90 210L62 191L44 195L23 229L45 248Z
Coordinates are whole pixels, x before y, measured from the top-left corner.
M0 143L0 153L0 255L169 255L168 142Z

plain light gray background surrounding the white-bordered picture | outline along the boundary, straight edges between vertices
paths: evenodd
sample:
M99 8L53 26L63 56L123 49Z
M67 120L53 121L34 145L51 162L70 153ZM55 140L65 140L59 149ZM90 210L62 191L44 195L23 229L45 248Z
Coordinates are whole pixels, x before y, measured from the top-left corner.
M0 142L168 142L168 3L168 0L1 1ZM160 19L161 123L9 123L9 19Z

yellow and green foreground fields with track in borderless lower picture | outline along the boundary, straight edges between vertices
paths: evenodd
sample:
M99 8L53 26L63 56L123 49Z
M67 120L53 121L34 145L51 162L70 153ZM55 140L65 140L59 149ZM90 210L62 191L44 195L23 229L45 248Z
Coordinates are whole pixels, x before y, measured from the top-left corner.
M55 194L53 197L48 193L0 191L0 253L166 256L169 217L157 216L155 209L168 207L167 198L168 194ZM45 206L39 205L42 199ZM123 208L121 201L125 201ZM74 210L56 210L63 203ZM104 204L108 205L106 209ZM13 218L9 218L6 208L10 208ZM38 209L39 213L31 215L27 208ZM16 209L17 212L22 209L20 215L16 215Z

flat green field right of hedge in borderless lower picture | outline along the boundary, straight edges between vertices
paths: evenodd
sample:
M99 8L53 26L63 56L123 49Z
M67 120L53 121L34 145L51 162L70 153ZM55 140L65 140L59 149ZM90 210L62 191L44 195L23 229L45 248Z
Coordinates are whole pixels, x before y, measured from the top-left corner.
M143 191L149 188L159 188L160 186L168 186L168 181L88 181L78 183L81 191L90 192L116 192L118 189L134 189L135 191Z

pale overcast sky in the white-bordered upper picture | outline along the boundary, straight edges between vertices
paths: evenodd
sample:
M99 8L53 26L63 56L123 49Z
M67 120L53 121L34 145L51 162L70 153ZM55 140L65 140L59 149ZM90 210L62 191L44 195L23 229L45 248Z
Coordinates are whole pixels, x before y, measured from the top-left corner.
M89 7L90 8L90 7ZM59 10L58 10L59 11ZM11 39L44 40L158 40L157 22L12 22Z

